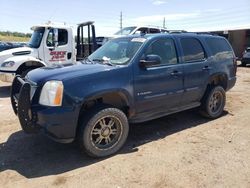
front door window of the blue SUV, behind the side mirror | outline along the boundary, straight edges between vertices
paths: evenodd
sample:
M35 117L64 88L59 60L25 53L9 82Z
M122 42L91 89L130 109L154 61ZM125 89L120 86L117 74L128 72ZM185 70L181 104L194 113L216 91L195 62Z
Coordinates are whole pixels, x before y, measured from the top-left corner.
M158 39L147 48L145 55L158 55L161 65L176 64L177 53L173 39Z

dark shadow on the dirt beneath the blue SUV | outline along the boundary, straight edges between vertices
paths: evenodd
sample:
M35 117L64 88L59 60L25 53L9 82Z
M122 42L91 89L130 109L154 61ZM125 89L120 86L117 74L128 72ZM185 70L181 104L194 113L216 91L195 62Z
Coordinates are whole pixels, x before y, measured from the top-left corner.
M137 152L143 144L208 121L191 110L147 123L132 124L125 146L116 155ZM0 172L11 169L26 178L61 174L105 160L90 158L79 152L75 143L59 144L43 134L27 135L22 131L13 133L7 142L0 144L0 154Z

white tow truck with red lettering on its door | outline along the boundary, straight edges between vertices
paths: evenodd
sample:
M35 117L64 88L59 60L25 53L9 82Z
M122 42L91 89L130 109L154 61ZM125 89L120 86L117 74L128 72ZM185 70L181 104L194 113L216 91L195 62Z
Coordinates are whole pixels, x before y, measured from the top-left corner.
M98 48L93 23L78 24L76 42L72 27L65 24L33 26L26 47L0 52L0 80L12 82L17 74L24 77L32 69L54 63L72 64L87 57Z

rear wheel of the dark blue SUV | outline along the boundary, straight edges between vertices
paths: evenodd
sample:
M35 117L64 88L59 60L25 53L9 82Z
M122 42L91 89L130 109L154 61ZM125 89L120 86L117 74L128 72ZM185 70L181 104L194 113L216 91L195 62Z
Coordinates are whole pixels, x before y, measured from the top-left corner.
M201 105L201 115L215 119L221 116L226 103L225 90L221 86L216 86L205 95Z

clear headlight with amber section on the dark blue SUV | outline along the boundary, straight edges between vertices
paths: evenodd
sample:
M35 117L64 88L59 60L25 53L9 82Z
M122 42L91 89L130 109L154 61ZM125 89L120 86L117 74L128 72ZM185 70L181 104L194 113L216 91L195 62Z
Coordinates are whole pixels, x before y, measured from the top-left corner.
M44 84L39 104L45 106L61 106L63 98L63 83L61 81L48 81Z

